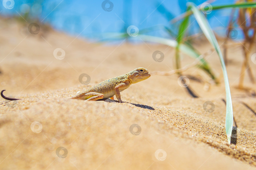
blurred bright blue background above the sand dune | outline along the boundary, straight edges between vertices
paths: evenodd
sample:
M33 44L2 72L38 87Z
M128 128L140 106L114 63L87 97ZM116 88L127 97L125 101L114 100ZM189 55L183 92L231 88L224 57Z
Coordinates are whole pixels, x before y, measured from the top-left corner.
M12 6L13 2L14 6ZM47 23L58 31L64 31L73 36L97 39L101 33L126 32L130 25L135 25L141 31L154 28L148 35L170 37L168 27L177 34L178 24L170 20L186 11L186 3L196 5L204 0L2 0L0 15L23 16L35 21L38 25ZM235 3L235 0L216 0L214 4ZM11 9L4 8L7 4ZM207 14L212 29L220 36L225 36L231 9L221 9ZM237 15L237 13L235 14ZM188 34L200 32L198 24L192 17ZM238 29L239 31L239 29ZM238 39L242 34L238 34Z

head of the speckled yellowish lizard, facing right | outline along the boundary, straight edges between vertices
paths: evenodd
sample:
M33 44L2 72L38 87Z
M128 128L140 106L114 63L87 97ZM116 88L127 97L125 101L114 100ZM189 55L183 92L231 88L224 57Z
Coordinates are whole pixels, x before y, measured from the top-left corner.
M131 83L137 83L142 80L146 80L150 77L149 71L143 67L139 67L131 72L128 73L129 80Z

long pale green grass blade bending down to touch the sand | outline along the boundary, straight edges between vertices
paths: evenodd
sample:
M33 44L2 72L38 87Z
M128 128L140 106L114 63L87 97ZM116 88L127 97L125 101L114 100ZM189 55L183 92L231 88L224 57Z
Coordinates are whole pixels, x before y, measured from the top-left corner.
M220 50L220 47L218 45L218 42L216 40L216 37L214 36L214 33L212 29L210 28L210 25L204 15L201 13L201 11L196 7L194 3L188 3L188 7L192 10L200 28L202 29L205 37L209 40L211 45L216 49L216 52L219 55L223 76L224 76L224 82L225 82L225 90L226 90L226 133L228 137L228 142L230 144L231 141L231 133L233 128L233 109L232 109L232 100L231 100L231 94L230 94L230 88L229 88L229 79L228 74L226 71L226 66L224 63L224 59Z

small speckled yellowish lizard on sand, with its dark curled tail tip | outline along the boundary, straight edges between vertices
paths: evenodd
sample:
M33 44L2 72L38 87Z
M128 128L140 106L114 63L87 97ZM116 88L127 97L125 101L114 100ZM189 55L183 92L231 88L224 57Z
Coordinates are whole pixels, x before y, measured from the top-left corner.
M88 88L87 90L81 91L74 96L68 97L67 99L84 99L86 101L96 101L99 99L114 99L114 95L120 103L123 103L121 100L120 92L129 88L131 84L146 80L150 77L149 71L143 67L138 67L133 71L130 71L127 74L121 76L113 77L107 79L99 84ZM16 98L9 98L3 95L1 96L7 100L20 100Z

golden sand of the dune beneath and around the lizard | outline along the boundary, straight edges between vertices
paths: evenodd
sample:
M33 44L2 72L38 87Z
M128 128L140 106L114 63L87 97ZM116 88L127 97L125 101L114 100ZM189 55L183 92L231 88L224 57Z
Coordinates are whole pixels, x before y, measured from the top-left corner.
M240 46L228 51L237 126L229 145L216 53L206 60L220 84L208 83L210 78L196 67L183 73L199 98L179 86L177 75L153 75L121 92L126 103L86 102L65 97L139 66L171 71L174 49L126 41L89 43L44 26L32 35L27 23L15 20L0 19L0 25L0 87L6 96L22 99L14 107L0 100L1 169L256 169L256 88L247 73L247 90L236 88ZM194 45L202 53L211 49L203 40ZM54 58L56 48L64 49L64 59ZM165 54L162 62L152 59L155 50ZM192 61L182 55L182 66ZM255 74L256 65L250 65ZM78 80L82 73L91 78L87 85ZM204 110L206 101L215 105L212 112Z

